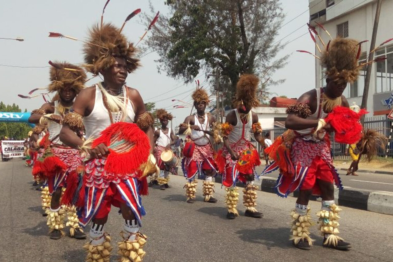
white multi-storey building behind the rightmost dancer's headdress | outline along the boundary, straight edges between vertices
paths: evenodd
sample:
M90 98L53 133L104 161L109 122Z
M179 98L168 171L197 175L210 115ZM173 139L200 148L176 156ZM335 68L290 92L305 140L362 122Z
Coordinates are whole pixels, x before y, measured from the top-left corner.
M323 24L332 37L349 37L359 41L369 40L362 44L361 59L366 58L370 50L371 35L373 33L376 0L309 0L310 22ZM330 37L316 26L325 44ZM376 44L393 38L393 0L383 0L379 18ZM317 40L322 49L323 46ZM316 54L318 55L316 49ZM393 107L393 41L378 48L375 57L386 55L385 61L373 64L368 94L368 116L388 114ZM323 83L323 68L316 59L316 87ZM358 81L348 85L344 95L349 104L353 102L361 105L364 90L365 71L360 71Z

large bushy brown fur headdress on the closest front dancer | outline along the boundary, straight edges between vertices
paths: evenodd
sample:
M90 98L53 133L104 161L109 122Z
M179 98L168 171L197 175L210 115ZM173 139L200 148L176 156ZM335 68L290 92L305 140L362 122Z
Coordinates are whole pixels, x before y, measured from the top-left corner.
M119 28L110 23L102 26L95 24L89 30L88 42L84 44L83 52L86 70L94 75L113 66L115 57L126 59L129 73L139 66L139 59L134 57L134 44L120 33Z

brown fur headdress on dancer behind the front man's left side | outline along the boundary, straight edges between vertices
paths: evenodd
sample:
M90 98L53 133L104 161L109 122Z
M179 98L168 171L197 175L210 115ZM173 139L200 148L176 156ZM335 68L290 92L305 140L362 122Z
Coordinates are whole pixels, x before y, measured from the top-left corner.
M81 91L86 82L84 70L67 62L50 62L49 71L51 83L48 85L49 92L56 92L64 87L72 87L77 93Z

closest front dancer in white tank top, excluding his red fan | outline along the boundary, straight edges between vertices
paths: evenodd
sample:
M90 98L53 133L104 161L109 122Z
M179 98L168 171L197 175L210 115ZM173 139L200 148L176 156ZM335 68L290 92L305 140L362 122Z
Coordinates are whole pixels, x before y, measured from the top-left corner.
M73 111L64 119L60 139L73 148L83 145L74 131L86 129L86 141L97 138L101 131L116 122L136 123L145 131L153 148L153 120L145 110L138 90L127 87L128 73L134 71L139 63L134 57L132 43L112 24L93 26L90 37L84 45L84 59L88 70L101 74L103 82L84 89L76 98ZM152 151L152 150L151 150ZM108 262L110 260L110 237L104 234L111 206L120 208L124 219L119 243L121 261L141 261L145 252L141 247L146 236L139 232L141 216L145 210L138 191L139 181L135 170L126 175L104 170L108 147L101 143L89 150L90 160L85 162L83 190L86 192L83 208L78 210L80 224L86 226L92 221L90 242L84 248L88 252L86 261ZM118 165L127 163L118 163ZM92 201L93 199L93 201Z

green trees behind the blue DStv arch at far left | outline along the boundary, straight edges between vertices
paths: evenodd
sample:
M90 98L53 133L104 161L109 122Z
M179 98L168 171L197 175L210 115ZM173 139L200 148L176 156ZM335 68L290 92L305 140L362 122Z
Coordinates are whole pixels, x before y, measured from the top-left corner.
M12 105L6 105L3 101L0 102L0 111L1 112L22 112L18 105L13 103ZM25 112L27 110L25 109ZM31 130L26 123L11 123L11 122L0 122L0 138L9 137L14 138L16 140L22 140L26 138L28 132Z

